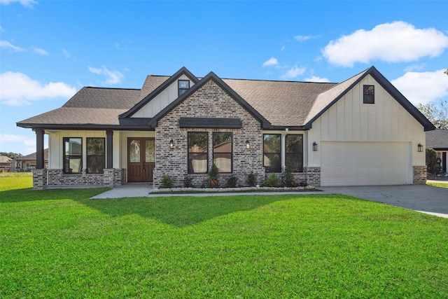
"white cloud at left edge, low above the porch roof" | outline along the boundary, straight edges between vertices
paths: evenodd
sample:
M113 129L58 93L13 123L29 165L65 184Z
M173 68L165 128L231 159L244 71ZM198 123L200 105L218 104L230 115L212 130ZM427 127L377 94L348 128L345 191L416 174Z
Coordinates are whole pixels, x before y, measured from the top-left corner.
M43 84L22 73L8 71L0 74L0 102L9 106L22 106L41 99L69 98L75 92L76 88L63 82Z

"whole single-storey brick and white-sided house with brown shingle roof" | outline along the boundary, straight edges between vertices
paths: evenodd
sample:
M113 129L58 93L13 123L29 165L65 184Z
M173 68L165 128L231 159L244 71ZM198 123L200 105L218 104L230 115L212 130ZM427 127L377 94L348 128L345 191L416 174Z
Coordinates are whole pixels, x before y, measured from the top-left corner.
M164 174L201 186L212 163L221 183L233 174L241 185L284 167L314 186L425 183L425 132L435 129L374 67L342 83L200 78L183 67L141 89L82 88L18 126L36 132L36 189L158 187Z

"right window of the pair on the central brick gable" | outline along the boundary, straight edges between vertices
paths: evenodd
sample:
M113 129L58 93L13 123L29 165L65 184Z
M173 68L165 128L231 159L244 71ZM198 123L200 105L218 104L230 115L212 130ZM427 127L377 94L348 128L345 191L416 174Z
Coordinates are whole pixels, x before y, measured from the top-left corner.
M213 133L213 162L219 172L232 172L232 132Z

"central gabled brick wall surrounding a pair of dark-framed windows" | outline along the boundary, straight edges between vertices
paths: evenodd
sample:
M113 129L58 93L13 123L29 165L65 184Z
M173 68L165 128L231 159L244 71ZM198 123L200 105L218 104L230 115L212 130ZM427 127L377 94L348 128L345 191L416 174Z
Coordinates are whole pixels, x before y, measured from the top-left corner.
M186 129L179 127L179 118L239 118L241 129ZM176 106L159 120L155 128L155 169L153 185L160 186L163 174L171 176L174 186L182 187L183 179L188 174L188 132L207 132L209 134L209 169L213 163L213 132L233 132L233 174L238 177L239 186L247 186L246 180L253 172L261 183L265 178L262 167L262 130L260 122L253 118L227 92L211 79L193 95ZM174 149L169 149L169 141L174 140ZM246 149L246 140L251 148ZM225 178L230 174L220 174L220 186L225 185ZM200 187L206 182L207 174L189 174L193 185Z

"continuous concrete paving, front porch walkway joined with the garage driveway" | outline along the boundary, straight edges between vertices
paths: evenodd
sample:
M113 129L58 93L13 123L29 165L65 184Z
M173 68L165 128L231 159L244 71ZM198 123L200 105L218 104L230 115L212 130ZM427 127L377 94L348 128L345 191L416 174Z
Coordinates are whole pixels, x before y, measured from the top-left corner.
M435 181L440 183L441 181ZM443 182L443 181L442 181ZM402 186L349 186L319 187L317 192L251 192L251 193L182 193L151 194L152 186L147 183L129 183L118 186L105 193L91 197L92 200L123 197L169 197L169 196L237 196L237 195L309 195L309 194L345 194L365 200L383 202L396 207L448 218L448 181L447 188L428 185Z

